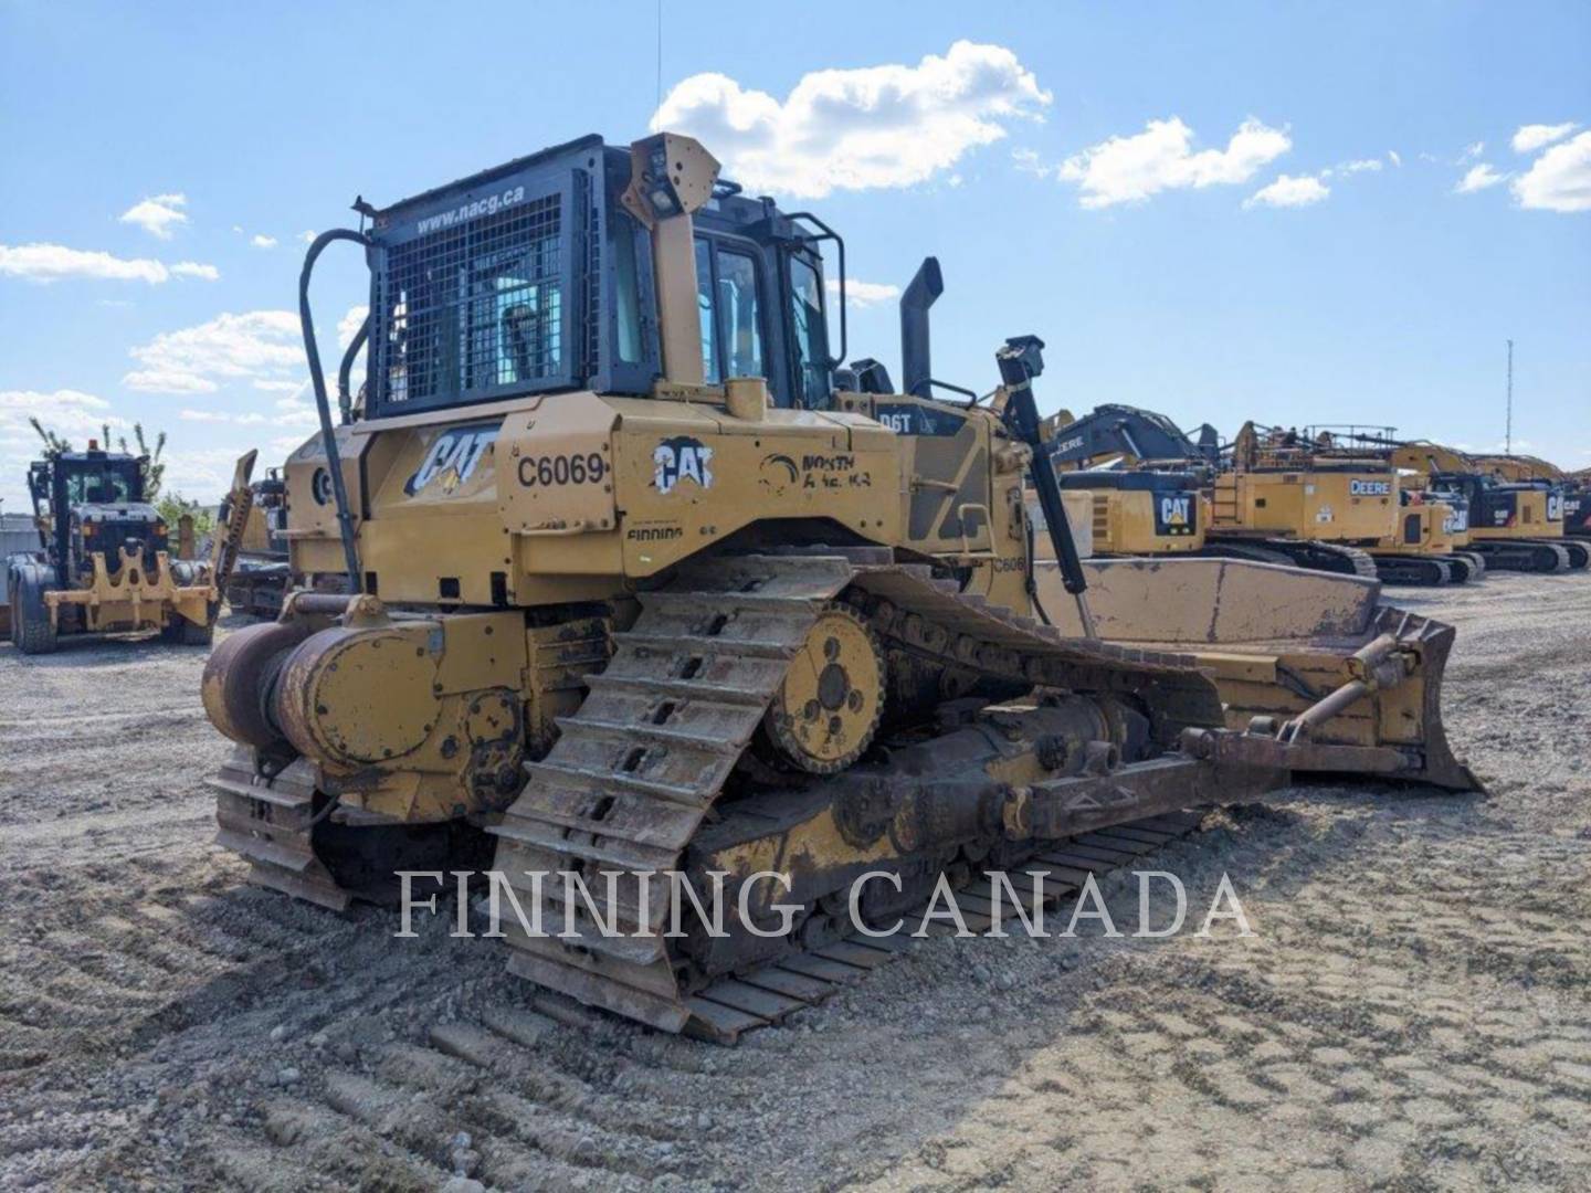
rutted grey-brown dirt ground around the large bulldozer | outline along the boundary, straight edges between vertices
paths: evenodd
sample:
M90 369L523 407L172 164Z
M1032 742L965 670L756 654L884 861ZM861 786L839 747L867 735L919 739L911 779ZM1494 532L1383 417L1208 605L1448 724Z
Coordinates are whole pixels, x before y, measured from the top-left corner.
M245 886L204 651L0 647L0 1188L1591 1187L1591 577L1392 600L1489 799L1214 813L1181 935L923 940L732 1050Z

